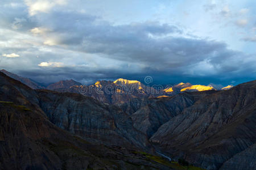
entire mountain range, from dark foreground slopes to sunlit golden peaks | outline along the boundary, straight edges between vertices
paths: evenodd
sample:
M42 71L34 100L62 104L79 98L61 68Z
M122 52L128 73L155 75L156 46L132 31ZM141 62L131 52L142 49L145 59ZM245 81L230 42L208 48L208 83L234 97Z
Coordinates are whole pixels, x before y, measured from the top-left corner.
M0 80L0 169L256 167L256 80L222 91L179 83L162 97L125 79L55 91Z

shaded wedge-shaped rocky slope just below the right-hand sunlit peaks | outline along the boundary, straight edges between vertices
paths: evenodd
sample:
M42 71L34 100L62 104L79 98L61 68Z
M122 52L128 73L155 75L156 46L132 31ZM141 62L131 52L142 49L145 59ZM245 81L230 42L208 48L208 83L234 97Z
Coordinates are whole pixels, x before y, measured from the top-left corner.
M180 114L183 109L190 107L201 97L214 92L183 93L172 97L150 99L148 104L141 105L137 111L131 114L133 126L147 137L151 137L161 125Z

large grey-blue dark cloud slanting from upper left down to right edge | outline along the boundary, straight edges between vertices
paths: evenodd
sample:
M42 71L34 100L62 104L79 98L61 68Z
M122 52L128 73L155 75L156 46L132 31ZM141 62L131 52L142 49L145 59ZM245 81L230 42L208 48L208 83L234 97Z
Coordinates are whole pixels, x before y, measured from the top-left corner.
M112 25L77 12L39 16L39 22L51 28L52 38L59 45L120 61L139 62L145 70L183 74L184 69L193 69L190 66L205 61L214 67L214 71L207 74L218 74L238 70L241 63L245 63L241 62L245 54L229 50L225 43L183 37L183 31L174 25L158 22ZM47 18L52 18L51 22L48 23Z

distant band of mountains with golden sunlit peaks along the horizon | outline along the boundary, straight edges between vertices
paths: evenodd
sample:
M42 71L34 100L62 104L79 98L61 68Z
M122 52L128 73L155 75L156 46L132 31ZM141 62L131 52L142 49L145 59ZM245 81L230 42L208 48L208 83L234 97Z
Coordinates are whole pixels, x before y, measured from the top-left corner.
M126 80L119 78L115 81L101 80L91 85L82 85L75 80L61 80L56 83L43 86L42 83L35 82L32 79L23 78L6 70L0 70L2 73L19 80L33 89L47 89L59 92L73 92L85 96L93 97L103 103L122 104L127 103L133 98L149 97L167 97L188 91L207 91L207 90L229 90L232 85L223 87L221 85L209 84L203 86L200 84L193 85L190 83L179 83L174 86L153 85L146 86L137 80Z

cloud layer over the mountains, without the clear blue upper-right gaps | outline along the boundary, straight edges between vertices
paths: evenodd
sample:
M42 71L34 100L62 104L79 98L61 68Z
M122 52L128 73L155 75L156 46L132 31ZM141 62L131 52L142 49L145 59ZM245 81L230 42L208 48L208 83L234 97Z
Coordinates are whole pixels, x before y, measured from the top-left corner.
M77 3L0 2L0 67L39 82L152 75L160 83L187 79L208 84L211 80L239 83L256 78L255 53L232 49L214 34L198 36L187 26L153 18L114 22L106 17L108 13L89 12L89 2ZM213 22L221 17L225 24L230 23L227 27L239 32L249 27L253 30L251 18L247 18L252 10L247 7L234 12L229 4L209 2L201 4L201 11ZM191 17L189 10L185 14ZM242 34L237 41L254 43L255 39ZM19 57L19 61L11 57Z

